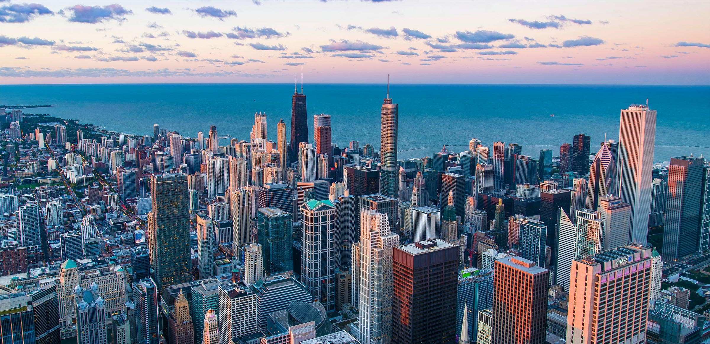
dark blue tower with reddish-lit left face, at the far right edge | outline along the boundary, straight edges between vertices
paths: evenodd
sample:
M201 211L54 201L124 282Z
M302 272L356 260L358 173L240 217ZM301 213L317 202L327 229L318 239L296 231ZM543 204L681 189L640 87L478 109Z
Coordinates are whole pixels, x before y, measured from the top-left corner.
M704 159L672 157L668 166L663 259L675 262L698 247Z

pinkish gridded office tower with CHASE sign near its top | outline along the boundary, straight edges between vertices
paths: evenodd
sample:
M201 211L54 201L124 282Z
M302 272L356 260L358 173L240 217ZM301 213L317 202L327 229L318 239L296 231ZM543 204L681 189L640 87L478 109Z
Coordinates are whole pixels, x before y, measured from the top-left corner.
M574 260L566 343L646 343L650 262L640 245Z

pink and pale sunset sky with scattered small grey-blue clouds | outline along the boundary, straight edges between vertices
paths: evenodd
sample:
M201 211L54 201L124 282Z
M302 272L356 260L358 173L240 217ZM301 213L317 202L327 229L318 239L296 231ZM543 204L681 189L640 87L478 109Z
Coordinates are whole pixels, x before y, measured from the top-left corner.
M0 84L710 84L710 1L0 0Z

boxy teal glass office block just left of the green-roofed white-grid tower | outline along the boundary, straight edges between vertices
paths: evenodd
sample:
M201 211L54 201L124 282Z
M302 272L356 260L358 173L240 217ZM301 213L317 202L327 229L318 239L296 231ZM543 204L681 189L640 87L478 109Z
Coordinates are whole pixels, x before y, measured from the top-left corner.
M260 208L256 235L268 274L293 270L293 215L278 208Z

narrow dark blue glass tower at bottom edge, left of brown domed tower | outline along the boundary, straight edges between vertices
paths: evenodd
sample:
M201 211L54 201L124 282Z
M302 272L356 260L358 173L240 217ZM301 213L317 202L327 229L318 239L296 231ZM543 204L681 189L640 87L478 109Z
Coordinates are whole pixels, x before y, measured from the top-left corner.
M189 237L187 242L190 242ZM133 301L136 305L134 321L138 343L158 343L158 288L153 279L133 283Z

